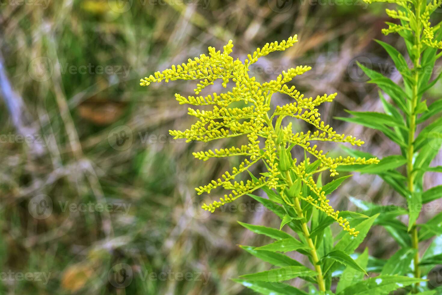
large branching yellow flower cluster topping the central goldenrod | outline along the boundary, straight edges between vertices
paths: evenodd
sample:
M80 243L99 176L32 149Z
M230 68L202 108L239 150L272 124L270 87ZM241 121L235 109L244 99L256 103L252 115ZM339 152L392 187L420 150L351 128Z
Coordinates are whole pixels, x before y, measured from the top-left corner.
M236 137L245 135L248 138L248 145L231 147L226 149L215 149L214 151L201 151L193 153L194 157L207 161L210 158L242 156L244 161L238 167L225 172L221 178L212 180L209 184L195 188L198 194L210 193L213 189L223 187L231 190L219 201L204 204L203 209L213 212L216 208L225 203L232 202L242 195L251 193L264 186L270 189L284 190L288 186L286 180L281 177L282 172L288 170L295 173L305 185L310 188L314 196L300 196L310 204L334 218L350 234L356 236L358 231L350 228L345 219L340 218L339 211L328 204L325 193L318 188L312 178L312 173L306 173L302 165L294 165L296 159L289 158L291 149L300 146L306 153L313 155L320 161L320 165L315 172L329 169L331 176L338 174L336 168L339 165L371 164L377 163L377 159L361 158L331 158L318 150L316 144L312 142L349 142L352 145L360 146L364 142L337 134L331 126L320 119L317 107L321 103L331 102L336 93L324 94L323 96L304 97L294 86L287 86L294 77L309 71L309 66L297 66L283 71L275 80L260 84L255 77L250 77L249 66L255 63L259 57L263 57L273 51L282 51L293 46L297 42L297 36L293 36L282 42L267 43L262 48L257 48L253 54L248 54L248 58L242 62L233 59L232 40L224 46L223 51L209 47L209 55L201 54L199 57L189 59L187 63L172 65L170 69L156 72L149 77L141 79L141 86L147 86L153 82L168 82L170 80L199 80L194 89L197 96L183 96L175 94L176 100L180 104L190 104L194 106L209 106L212 110L200 111L189 107L189 115L197 118L189 129L184 131L170 130L174 138L185 138L187 141L209 142L219 138ZM198 96L208 85L215 80L221 79L223 87L227 87L232 81L232 88L221 94L213 93L207 96ZM271 113L272 94L278 92L289 96L293 102L284 106L276 106ZM229 107L232 103L241 102L242 107ZM238 103L236 103L238 105ZM272 114L269 116L269 114ZM292 124L282 126L282 119L293 117L300 119L312 126L316 131L293 133ZM276 122L276 123L274 123ZM281 156L283 155L283 156ZM287 156L287 157L286 157ZM242 172L250 169L252 165L262 160L267 166L267 172L261 173L259 178L252 177L246 182L235 181L235 178ZM289 162L287 162L289 161ZM306 161L309 161L306 159ZM232 183L233 181L233 183Z

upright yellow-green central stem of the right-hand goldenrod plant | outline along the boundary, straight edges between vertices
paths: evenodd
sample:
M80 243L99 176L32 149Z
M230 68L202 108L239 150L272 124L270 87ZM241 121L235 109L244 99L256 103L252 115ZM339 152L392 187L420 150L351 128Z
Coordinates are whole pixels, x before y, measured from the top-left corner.
M413 89L412 89L412 101L410 105L410 125L408 130L408 153L407 153L407 180L408 180L408 190L410 194L414 194L414 173L413 173L413 156L414 156L414 138L415 138L415 130L416 130L416 113L415 109L418 103L418 85L419 85L419 70L420 70L420 48L421 48L421 40L420 40L420 34L421 34L421 22L420 22L420 1L417 1L418 5L416 6L416 23L417 23L417 30L415 32L415 60L413 61L414 65L414 73L413 73ZM416 208L412 208L412 210L415 210ZM419 238L418 238L418 230L416 226L416 222L414 222L412 231L411 231L411 238L412 238L412 247L416 249L416 254L413 260L414 264L414 276L415 278L420 279L420 269L419 269ZM419 283L416 283L416 286L418 286Z

